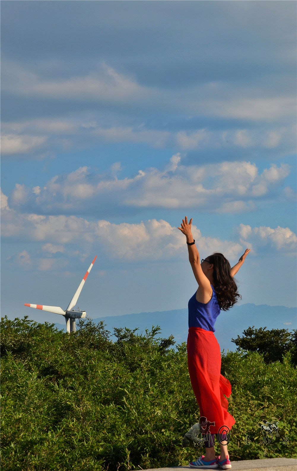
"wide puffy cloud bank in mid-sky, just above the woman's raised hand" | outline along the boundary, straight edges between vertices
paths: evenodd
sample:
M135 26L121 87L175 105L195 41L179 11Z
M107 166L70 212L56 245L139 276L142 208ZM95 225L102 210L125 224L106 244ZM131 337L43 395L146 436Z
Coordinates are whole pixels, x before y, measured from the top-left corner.
M10 196L14 208L29 212L94 213L123 207L201 208L219 212L255 210L259 198L276 197L277 189L289 175L289 166L272 164L261 174L250 162L222 162L213 165L183 166L175 154L163 171L140 170L120 179L120 163L109 174L93 175L80 167L67 176L56 175L45 187L29 189L16 184Z

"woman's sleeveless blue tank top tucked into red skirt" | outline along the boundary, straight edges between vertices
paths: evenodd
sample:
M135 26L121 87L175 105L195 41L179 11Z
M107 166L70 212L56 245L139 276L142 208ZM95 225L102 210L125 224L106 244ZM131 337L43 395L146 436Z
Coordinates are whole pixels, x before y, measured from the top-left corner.
M212 284L211 288L212 297L206 304L196 300L196 293L189 300L189 327L201 327L201 329L215 332L214 323L219 316L220 309L217 294Z

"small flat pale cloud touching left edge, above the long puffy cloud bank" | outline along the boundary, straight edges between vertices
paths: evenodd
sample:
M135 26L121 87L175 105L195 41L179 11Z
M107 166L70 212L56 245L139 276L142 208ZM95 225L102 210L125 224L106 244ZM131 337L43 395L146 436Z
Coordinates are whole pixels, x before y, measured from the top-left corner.
M27 154L32 149L44 145L46 141L45 136L3 134L1 135L1 154Z

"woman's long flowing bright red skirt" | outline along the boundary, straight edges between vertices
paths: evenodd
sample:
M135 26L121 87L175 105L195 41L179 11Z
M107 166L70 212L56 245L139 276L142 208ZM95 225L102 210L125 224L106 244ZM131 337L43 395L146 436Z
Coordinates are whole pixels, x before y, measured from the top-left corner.
M231 394L231 384L220 374L221 354L214 333L190 327L187 350L189 374L200 416L215 422L211 433L218 433L222 425L231 429L235 420L227 412L228 401L225 398Z

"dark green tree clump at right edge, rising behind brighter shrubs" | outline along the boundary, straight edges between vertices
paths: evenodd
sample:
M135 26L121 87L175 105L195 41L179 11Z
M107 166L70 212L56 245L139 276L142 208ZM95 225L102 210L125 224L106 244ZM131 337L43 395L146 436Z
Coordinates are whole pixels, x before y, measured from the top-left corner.
M263 353L266 363L282 362L283 355L290 352L293 363L297 365L297 330L291 333L288 329L266 330L266 327L255 329L253 325L244 330L243 334L242 337L237 335L237 339L232 339L238 346L237 350Z

